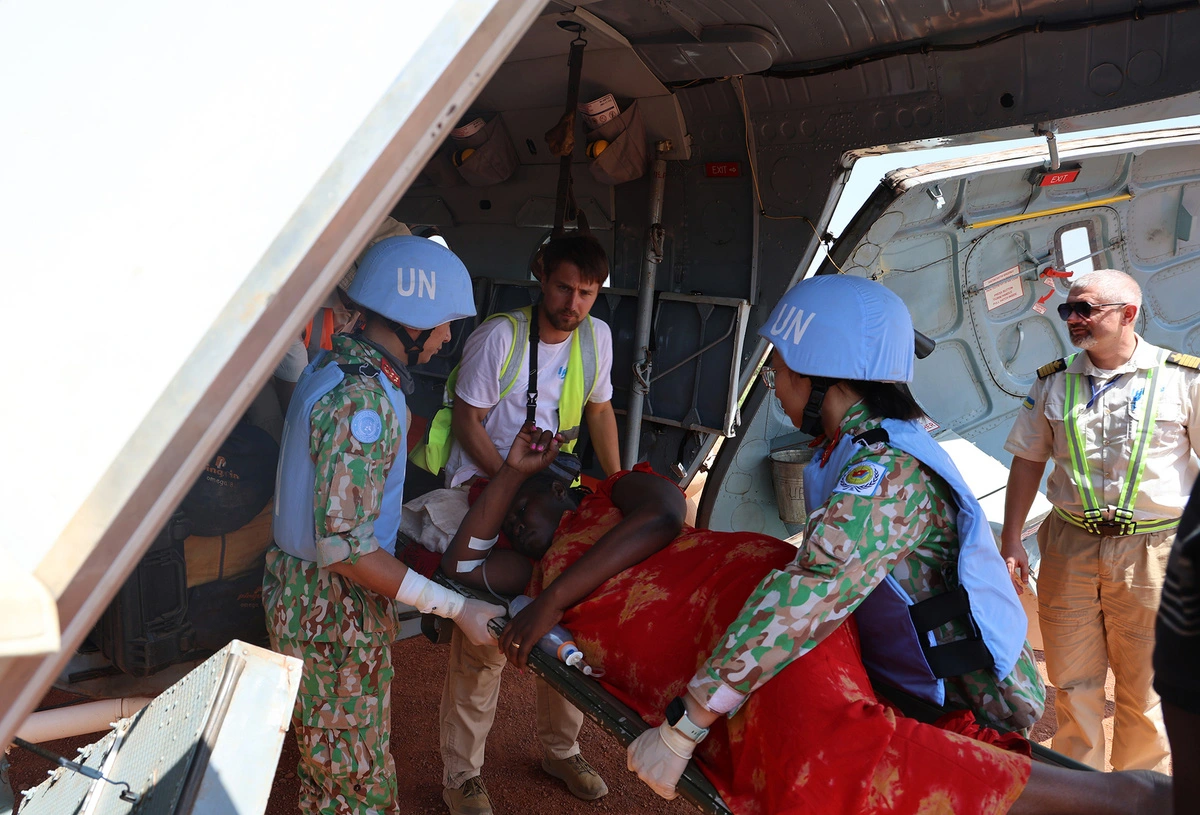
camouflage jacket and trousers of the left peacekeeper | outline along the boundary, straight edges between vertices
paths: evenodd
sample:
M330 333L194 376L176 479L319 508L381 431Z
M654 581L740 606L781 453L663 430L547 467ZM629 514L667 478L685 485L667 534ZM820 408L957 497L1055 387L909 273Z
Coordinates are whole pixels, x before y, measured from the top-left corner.
M329 364L379 367L380 354L336 336ZM378 441L350 433L362 409L383 419ZM304 660L293 714L300 748L300 809L322 815L396 811L396 768L389 750L395 617L390 598L324 567L355 563L379 549L374 519L392 463L403 466L401 424L374 378L348 376L312 409L313 511L319 563L271 546L263 605L271 646Z

